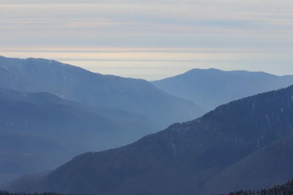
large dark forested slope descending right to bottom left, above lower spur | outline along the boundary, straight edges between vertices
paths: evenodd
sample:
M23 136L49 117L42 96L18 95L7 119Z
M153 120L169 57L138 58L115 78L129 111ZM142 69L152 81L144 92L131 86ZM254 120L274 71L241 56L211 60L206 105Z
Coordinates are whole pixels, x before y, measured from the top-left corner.
M99 195L204 194L204 184L213 176L292 133L290 86L219 106L203 117L175 123L125 147L77 156L47 176L26 185L12 183L8 189Z

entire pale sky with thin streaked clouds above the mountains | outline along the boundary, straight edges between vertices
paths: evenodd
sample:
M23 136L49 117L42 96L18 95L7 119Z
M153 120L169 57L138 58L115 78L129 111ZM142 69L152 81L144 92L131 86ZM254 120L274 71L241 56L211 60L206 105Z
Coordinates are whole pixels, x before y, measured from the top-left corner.
M0 55L147 80L293 75L293 0L0 0Z

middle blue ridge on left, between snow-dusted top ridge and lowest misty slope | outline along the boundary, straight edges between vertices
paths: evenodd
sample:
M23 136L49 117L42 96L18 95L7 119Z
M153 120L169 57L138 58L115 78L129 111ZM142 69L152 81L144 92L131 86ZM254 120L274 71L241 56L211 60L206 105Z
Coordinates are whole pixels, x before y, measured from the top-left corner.
M131 137L138 138L157 130L148 118L115 109L86 107L48 93L23 93L0 88L0 106L1 129L58 138L66 144L79 145L83 152L118 147L128 143L127 139L118 138L129 137L131 140ZM106 143L86 146L106 137ZM113 143L109 144L112 140Z

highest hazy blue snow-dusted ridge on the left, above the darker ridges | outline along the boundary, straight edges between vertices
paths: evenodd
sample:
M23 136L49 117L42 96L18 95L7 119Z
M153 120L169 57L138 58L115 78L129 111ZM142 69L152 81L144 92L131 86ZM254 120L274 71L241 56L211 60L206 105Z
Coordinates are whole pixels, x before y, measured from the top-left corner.
M101 75L47 59L0 57L0 87L143 114L162 128L204 114L192 101L170 96L146 80Z

